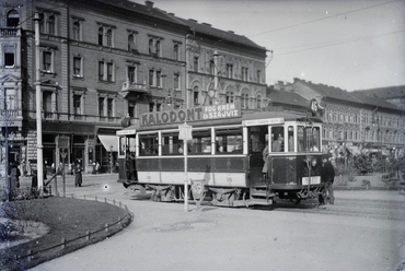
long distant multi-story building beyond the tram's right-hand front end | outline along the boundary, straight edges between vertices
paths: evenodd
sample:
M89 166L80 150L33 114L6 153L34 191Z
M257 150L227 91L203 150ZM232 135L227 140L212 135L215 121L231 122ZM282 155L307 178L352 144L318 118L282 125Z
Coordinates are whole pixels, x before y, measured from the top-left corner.
M383 98L297 78L293 83L279 82L275 89L298 93L309 101L315 98L325 107L324 150L343 153L346 145L354 153L366 149L385 154L389 151L403 154L405 117L396 105Z

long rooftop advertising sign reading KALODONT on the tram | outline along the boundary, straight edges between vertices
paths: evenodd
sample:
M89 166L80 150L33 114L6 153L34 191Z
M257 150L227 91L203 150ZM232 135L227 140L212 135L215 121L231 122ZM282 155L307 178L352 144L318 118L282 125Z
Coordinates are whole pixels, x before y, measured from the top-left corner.
M212 105L185 109L147 113L141 116L141 126L183 123L241 117L240 104Z

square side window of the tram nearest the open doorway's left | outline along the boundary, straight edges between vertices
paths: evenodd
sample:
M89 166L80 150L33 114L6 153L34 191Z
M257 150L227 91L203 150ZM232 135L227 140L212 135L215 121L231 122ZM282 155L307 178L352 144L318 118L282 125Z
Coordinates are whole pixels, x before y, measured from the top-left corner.
M242 153L242 128L216 130L217 154Z

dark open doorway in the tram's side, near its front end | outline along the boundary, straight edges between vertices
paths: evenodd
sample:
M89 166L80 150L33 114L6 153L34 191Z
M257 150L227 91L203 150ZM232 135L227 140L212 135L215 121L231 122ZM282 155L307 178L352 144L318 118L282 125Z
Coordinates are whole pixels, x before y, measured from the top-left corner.
M263 173L265 164L263 151L268 144L268 126L248 127L248 154L250 154L250 182L251 186L265 186L266 179Z

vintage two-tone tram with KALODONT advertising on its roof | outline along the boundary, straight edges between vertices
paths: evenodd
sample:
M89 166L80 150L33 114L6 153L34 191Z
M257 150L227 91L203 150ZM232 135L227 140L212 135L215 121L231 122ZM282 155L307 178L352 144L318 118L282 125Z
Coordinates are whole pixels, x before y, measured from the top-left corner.
M186 144L184 123L190 130ZM117 132L118 181L151 190L155 201L193 197L184 191L184 182L193 180L204 182L213 205L315 198L324 189L321 131L311 113L242 113L238 104L143 114L139 123Z

